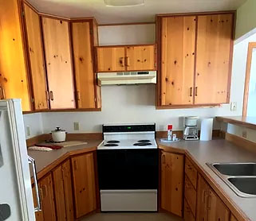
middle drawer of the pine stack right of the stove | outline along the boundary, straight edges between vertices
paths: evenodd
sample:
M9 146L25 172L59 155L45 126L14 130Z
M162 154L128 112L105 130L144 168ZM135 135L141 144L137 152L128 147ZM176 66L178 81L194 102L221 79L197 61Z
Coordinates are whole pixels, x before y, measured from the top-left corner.
M185 175L185 199L187 200L187 204L191 207L191 211L195 216L195 206L196 206L196 191L191 181Z

